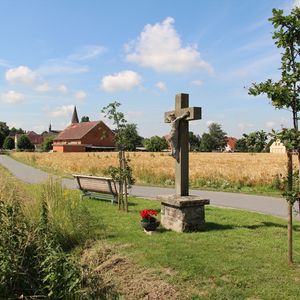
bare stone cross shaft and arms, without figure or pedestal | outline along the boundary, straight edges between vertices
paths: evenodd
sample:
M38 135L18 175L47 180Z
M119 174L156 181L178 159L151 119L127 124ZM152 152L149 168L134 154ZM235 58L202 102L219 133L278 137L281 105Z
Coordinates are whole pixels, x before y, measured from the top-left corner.
M178 160L175 160L175 191L177 196L189 195L189 122L201 119L201 107L189 107L189 94L177 94L175 110L165 113L165 123L170 123L170 115L180 117L186 113L178 127Z

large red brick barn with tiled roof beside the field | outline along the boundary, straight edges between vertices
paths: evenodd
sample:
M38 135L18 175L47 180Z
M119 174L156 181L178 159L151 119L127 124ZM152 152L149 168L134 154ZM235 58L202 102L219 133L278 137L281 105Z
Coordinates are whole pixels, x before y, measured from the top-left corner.
M53 141L53 151L56 152L86 152L114 148L114 133L102 121L72 123Z

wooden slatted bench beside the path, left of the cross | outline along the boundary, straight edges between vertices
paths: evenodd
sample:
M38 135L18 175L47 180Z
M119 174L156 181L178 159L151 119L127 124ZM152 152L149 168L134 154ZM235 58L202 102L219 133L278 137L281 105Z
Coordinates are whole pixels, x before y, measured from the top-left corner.
M96 199L109 199L112 203L118 201L117 186L112 178L77 174L73 174L73 177L82 192L81 199L87 196Z

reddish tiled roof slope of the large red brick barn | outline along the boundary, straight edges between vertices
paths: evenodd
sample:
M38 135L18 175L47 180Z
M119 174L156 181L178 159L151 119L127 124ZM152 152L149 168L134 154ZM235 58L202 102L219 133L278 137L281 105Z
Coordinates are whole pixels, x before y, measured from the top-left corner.
M79 140L102 121L75 123L68 126L54 140Z

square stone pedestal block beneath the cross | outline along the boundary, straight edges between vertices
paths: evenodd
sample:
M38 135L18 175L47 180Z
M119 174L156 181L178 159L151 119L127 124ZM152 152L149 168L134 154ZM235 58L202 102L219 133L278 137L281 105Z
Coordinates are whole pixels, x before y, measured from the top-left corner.
M158 196L161 201L161 225L177 232L205 230L208 199L199 196Z

